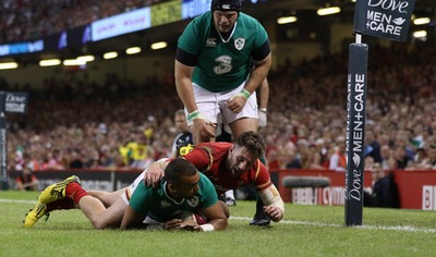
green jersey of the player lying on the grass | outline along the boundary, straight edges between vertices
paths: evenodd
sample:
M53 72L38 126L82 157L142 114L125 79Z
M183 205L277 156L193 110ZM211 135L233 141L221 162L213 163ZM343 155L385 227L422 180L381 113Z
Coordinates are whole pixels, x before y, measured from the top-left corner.
M214 185L204 174L199 173L197 195L180 203L174 201L166 193L167 182L160 182L159 187L153 188L140 183L130 199L130 207L137 213L149 216L159 222L166 222L184 212L204 209L218 201Z

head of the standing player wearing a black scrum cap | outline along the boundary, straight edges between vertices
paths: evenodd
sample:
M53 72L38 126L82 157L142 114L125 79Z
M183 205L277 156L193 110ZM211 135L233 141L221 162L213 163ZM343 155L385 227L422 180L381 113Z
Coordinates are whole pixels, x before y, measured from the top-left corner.
M242 8L241 0L213 0L210 10L214 15L214 23L221 33L228 33L238 21Z

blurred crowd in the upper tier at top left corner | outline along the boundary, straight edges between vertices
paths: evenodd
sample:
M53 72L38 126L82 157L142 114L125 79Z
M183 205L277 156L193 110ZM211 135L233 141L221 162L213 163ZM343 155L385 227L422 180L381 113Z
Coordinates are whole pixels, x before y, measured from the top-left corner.
M1 0L0 44L40 38L162 1Z

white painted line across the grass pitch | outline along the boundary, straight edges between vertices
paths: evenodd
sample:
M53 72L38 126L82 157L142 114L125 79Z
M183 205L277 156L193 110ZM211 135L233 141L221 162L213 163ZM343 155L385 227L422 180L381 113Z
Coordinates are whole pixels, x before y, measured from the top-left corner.
M19 203L19 204L35 204L36 200L17 200L17 199L1 199L0 203ZM231 220L252 220L249 217L230 217ZM299 221L299 220L282 220L277 224L299 224L299 225L311 225L311 227L329 227L329 228L346 228L341 224L336 223L322 223L322 222L311 222L311 221ZM353 229L363 230L387 230L387 231L404 231L404 232L422 232L422 233L436 233L436 229L431 228L415 228L410 225L396 225L396 227L384 227L384 225L359 225L352 227Z

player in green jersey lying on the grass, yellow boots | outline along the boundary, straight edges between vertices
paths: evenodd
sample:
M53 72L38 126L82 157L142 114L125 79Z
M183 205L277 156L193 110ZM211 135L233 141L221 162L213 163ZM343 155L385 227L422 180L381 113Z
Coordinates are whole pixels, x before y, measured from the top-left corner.
M218 201L211 182L184 159L173 159L167 168L166 180L155 188L143 183L144 171L129 187L113 193L86 192L77 176L70 176L41 192L24 227L53 210L80 208L96 229L225 230L226 206ZM97 198L101 194L110 196L110 203Z

